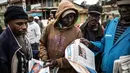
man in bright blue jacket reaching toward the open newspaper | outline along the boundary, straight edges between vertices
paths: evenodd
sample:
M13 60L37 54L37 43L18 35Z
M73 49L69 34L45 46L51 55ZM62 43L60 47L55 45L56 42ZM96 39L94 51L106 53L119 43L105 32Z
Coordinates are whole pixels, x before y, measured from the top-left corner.
M120 56L130 55L130 1L117 0L120 18L116 17L106 26L100 41L82 41L90 49L98 47L102 52L102 73L112 73L114 61Z

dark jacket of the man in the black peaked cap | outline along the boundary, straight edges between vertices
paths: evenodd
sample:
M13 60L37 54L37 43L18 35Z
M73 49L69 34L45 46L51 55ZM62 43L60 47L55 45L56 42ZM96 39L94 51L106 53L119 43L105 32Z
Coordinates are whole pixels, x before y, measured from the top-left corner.
M83 37L89 41L100 41L101 38L103 37L103 33L104 33L104 29L103 27L98 24L99 27L98 27L98 31L95 33L95 32L92 32L89 27L88 27L88 22L86 21L81 27L81 31L83 33ZM99 51L99 48L97 47L93 47L91 49L92 51L94 52L97 52ZM96 56L95 56L95 65L96 65L96 71L98 73L101 73L101 68L100 68L100 64L101 64L101 53L98 53Z

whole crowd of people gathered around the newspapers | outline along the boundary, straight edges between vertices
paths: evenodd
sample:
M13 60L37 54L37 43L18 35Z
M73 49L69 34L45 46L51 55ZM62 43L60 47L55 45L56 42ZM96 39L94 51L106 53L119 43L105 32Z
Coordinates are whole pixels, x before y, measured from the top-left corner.
M0 26L0 73L29 73L32 58L59 67L58 73L77 73L65 58L66 47L81 39L95 54L97 73L112 73L114 61L130 55L130 1L117 0L120 17L114 17L105 28L99 23L103 8L88 8L88 18L75 26L79 12L68 0L60 2L55 18L50 14L44 27L38 16L28 16L20 6L9 6L4 13L7 26Z

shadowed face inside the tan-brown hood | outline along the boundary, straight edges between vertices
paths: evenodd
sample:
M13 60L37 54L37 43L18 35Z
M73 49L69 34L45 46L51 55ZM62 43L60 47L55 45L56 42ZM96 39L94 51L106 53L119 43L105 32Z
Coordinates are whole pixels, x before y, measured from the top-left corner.
M75 18L75 14L73 13L67 14L65 17L61 19L61 23L63 26L69 27L74 22L74 18Z

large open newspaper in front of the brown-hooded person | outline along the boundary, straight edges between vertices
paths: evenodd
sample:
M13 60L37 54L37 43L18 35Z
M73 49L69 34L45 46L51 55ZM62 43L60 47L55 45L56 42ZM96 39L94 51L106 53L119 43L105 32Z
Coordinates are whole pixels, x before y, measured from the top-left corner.
M94 53L80 39L67 46L65 58L78 73L96 73Z

